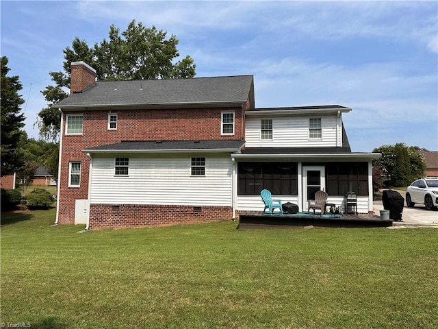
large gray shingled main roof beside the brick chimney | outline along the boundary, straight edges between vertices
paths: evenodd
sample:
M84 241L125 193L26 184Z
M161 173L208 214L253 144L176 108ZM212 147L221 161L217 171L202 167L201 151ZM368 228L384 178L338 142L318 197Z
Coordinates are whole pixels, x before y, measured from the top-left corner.
M56 108L178 108L241 106L253 95L253 75L192 79L97 81L56 103ZM254 99L254 97L250 97ZM254 104L250 104L254 106Z

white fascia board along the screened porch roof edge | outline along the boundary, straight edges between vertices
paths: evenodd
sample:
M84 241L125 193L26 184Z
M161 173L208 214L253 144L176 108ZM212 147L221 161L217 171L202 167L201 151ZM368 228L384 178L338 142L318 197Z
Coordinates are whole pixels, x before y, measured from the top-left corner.
M372 160L381 158L380 153L337 153L337 154L231 154L236 160Z

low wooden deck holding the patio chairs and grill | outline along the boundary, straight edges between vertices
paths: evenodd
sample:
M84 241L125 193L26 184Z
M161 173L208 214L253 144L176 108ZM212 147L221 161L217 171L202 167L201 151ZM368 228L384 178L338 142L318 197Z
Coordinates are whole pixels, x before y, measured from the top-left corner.
M290 228L320 226L336 228L378 228L392 226L392 219L381 219L378 215L311 215L309 213L263 214L261 211L244 211L239 216L239 228Z

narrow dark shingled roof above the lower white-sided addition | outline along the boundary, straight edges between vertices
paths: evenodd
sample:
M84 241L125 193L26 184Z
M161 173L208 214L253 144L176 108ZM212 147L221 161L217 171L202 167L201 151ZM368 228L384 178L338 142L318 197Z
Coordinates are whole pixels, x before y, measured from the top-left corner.
M188 149L224 149L237 151L244 145L244 141L122 141L116 144L89 147L83 151L169 151Z

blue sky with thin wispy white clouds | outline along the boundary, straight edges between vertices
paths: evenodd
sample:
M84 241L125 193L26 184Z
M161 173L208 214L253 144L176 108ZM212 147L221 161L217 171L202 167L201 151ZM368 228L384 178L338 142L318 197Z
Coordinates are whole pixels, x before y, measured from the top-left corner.
M196 76L253 74L259 108L338 104L352 151L438 150L437 1L1 1L1 56L19 75L25 130L75 37L135 19L175 34Z

